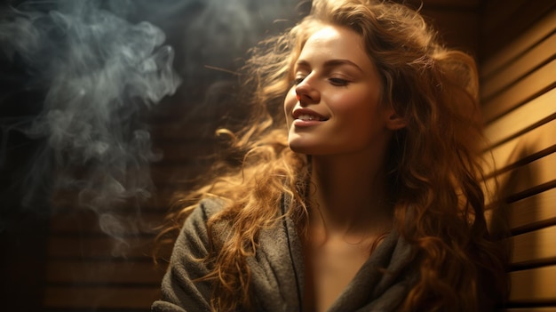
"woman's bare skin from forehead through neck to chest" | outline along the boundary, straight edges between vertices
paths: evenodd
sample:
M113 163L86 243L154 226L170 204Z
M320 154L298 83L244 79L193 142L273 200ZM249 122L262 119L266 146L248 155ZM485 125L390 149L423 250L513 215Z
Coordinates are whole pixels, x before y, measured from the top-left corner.
M284 100L290 148L312 156L305 310L325 311L391 228L385 153L404 126L381 100L377 69L361 36L323 25L310 36Z

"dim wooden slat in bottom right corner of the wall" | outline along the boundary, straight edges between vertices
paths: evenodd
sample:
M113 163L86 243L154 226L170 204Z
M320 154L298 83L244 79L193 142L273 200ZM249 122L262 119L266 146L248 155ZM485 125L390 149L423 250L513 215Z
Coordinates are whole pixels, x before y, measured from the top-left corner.
M556 298L556 265L510 273L511 302L553 302Z

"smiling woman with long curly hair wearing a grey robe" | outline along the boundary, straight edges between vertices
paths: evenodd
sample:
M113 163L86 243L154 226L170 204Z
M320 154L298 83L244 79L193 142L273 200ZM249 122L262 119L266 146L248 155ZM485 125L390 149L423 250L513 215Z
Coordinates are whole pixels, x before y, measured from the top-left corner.
M371 0L315 1L253 54L259 106L183 200L153 311L493 308L473 60Z

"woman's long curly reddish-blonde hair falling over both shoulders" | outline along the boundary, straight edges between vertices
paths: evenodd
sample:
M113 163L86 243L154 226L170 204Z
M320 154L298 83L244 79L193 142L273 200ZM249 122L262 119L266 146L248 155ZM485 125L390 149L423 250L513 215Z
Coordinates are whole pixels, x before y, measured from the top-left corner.
M389 146L387 188L394 227L415 246L419 279L401 303L403 311L472 311L506 293L504 251L488 233L481 172L481 109L473 58L439 44L425 20L408 7L372 0L315 0L311 13L281 36L258 44L243 68L250 118L242 130L220 130L230 146L215 164L214 179L187 195L174 223L159 237L178 232L206 196L226 202L208 220L211 252L203 259L214 284L211 306L251 307L250 270L261 229L290 217L305 233L307 156L294 153L282 110L293 64L322 25L352 29L377 67L381 105L407 125ZM282 215L281 200L291 203ZM218 228L231 228L222 241Z

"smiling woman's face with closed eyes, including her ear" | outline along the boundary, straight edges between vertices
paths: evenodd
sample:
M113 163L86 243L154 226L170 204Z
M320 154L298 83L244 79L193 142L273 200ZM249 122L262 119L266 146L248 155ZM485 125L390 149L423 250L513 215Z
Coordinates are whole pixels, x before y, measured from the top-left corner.
M361 36L324 26L310 36L294 68L284 109L290 148L307 155L374 153L390 138L391 109Z

